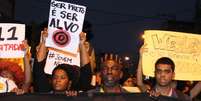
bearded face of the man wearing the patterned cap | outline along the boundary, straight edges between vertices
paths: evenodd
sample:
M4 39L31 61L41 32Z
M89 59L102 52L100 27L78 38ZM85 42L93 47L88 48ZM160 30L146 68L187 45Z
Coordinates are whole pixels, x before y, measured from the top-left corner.
M114 86L122 77L121 67L113 60L108 60L101 68L101 77L106 86Z

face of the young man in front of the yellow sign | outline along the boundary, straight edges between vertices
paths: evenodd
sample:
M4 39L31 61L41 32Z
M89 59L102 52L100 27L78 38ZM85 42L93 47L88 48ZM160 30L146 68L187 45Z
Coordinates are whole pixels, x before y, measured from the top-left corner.
M158 64L155 70L156 82L159 86L169 86L171 85L172 79L174 78L174 72L171 65L168 64Z

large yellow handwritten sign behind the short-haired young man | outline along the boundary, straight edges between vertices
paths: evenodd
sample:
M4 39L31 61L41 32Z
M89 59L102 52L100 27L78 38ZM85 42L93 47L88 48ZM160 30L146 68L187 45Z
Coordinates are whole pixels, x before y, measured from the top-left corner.
M154 76L154 64L160 57L175 62L176 80L201 80L201 35L147 30L144 32L143 73Z

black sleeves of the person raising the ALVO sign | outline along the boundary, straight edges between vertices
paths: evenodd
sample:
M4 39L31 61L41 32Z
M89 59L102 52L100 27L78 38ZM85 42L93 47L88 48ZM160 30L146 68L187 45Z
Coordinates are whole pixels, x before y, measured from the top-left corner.
M45 61L37 62L37 60L34 62L33 67L33 83L34 83L34 91L35 92L50 92L52 91L52 85L50 83L51 76L45 74L44 67L45 67ZM48 79L49 78L49 79ZM75 87L72 87L73 90L82 90L87 91L90 89L91 85L91 78L92 78L92 71L90 64L86 64L85 66L80 68L80 78L78 81L78 84L76 84Z

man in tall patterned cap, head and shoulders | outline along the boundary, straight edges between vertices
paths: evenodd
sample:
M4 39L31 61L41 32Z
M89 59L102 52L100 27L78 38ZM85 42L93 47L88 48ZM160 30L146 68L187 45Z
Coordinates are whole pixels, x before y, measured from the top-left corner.
M123 76L122 65L120 59L113 54L105 55L105 59L102 59L100 66L100 77L102 84L96 89L89 92L101 92L101 93L125 93L125 89L119 84L120 79Z

